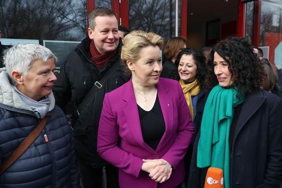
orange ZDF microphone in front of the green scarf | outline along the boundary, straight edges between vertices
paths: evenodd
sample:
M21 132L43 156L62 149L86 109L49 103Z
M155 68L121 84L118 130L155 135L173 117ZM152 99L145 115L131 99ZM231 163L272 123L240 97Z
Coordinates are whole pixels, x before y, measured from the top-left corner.
M219 168L210 167L207 170L204 188L224 188L223 171Z

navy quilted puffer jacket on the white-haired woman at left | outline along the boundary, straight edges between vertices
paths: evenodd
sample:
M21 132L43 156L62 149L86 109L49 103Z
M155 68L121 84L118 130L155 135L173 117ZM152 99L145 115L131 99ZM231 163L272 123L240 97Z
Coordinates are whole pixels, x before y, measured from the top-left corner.
M0 73L0 166L40 122L5 73ZM1 188L80 188L70 125L53 94L47 97L51 117L31 146L0 175Z

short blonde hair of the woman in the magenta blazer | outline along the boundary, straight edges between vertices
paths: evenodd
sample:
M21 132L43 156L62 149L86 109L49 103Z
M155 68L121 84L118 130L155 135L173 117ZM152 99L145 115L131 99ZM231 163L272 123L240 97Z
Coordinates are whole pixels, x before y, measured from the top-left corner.
M131 71L126 62L136 62L140 58L140 51L144 47L163 48L163 38L154 32L132 31L125 36L125 44L122 48L121 59L125 66L125 74L130 76Z

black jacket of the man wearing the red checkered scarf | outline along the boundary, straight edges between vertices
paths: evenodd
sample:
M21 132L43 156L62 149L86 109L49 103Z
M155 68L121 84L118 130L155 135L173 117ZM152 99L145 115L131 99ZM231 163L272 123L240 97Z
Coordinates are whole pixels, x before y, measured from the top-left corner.
M102 78L113 63L120 63L122 42L119 41L116 55L99 70L92 62L90 54L90 38L84 39L74 51L72 51L63 63L58 74L57 82L53 86L56 104L64 107L70 100L74 110L78 108L84 96L91 90L94 83ZM79 118L73 114L75 149L77 160L93 168L107 164L97 154L97 132L106 93L118 88L129 80L123 73L123 66L112 74L104 86L91 98L81 110Z

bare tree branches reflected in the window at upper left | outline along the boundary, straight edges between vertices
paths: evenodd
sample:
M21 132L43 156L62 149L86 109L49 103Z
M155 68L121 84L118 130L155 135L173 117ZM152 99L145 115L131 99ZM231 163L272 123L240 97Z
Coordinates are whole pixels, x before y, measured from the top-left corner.
M0 6L7 38L82 40L87 31L86 0L0 0Z

